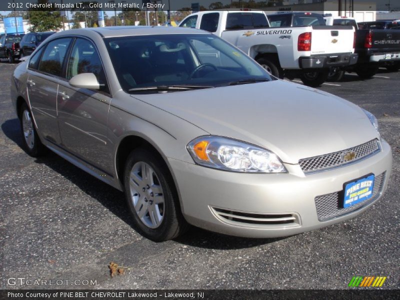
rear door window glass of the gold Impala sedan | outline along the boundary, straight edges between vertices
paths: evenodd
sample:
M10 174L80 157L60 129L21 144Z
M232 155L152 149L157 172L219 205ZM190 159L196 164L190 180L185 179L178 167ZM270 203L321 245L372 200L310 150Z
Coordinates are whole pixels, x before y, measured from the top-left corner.
M50 41L41 56L38 70L55 75L62 76L62 63L65 58L71 38L58 38Z

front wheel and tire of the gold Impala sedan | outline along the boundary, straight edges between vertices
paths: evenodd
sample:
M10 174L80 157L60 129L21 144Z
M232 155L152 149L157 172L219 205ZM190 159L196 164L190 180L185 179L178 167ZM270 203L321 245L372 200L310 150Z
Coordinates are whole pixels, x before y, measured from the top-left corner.
M129 154L123 183L130 214L143 236L164 241L186 231L188 224L173 180L163 161L151 151L137 148Z

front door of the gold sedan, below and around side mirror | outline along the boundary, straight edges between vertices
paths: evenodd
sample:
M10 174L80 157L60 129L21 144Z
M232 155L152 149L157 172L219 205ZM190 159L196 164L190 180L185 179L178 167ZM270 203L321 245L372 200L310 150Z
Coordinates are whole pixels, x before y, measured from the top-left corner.
M100 90L75 88L68 81L80 73L94 73ZM77 37L66 66L66 80L58 87L58 125L62 145L80 159L107 173L112 157L107 149L107 118L111 96L95 45Z

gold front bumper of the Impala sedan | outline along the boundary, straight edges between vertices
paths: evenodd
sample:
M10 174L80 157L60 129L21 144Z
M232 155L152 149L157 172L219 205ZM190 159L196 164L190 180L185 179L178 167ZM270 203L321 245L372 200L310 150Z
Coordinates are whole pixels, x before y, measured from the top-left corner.
M276 237L321 228L367 209L387 187L392 157L390 146L382 140L381 151L373 156L308 175L303 174L298 164L285 164L288 173L251 174L216 170L172 158L168 162L178 185L183 215L189 223L229 235ZM344 182L369 173L384 174L373 200L338 217L318 219L317 196L340 192ZM254 221L260 217L265 222Z

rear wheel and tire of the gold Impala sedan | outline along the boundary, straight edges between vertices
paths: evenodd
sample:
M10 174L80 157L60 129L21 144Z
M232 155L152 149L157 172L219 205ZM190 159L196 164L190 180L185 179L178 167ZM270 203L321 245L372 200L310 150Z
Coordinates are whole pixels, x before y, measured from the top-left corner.
M21 125L21 136L23 148L32 157L38 157L45 153L46 147L41 143L33 124L32 114L26 105L22 103L19 110L19 122Z

